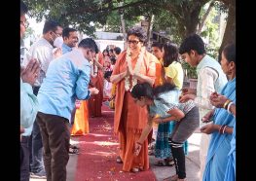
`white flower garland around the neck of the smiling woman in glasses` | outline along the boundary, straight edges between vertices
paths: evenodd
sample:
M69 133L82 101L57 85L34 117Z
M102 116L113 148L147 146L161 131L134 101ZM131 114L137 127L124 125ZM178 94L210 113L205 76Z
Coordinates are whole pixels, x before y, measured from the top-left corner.
M140 71L140 67L141 67L141 63L142 63L142 60L143 60L143 55L145 53L145 50L146 50L145 47L142 47L141 50L140 50L137 62L136 62L135 67L134 67L134 74L138 74L139 71ZM129 69L132 70L131 54L130 54L129 48L127 50L126 61L128 62ZM129 83L129 76L125 77L125 89L127 91L128 90L132 90L132 88L137 84L137 79L133 78L133 76L131 77L131 79L132 80L131 80L131 85L130 85L130 83Z

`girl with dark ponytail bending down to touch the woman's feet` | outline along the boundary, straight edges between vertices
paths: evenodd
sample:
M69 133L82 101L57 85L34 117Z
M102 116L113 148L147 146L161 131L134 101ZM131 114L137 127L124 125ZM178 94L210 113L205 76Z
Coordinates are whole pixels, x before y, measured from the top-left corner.
M178 103L176 97L179 90L169 83L153 89L148 83L137 84L131 90L131 95L137 105L148 107L148 124L144 127L140 138L135 143L134 154L137 156L144 140L152 128L153 122L165 123L175 121L176 125L171 132L169 144L175 163L176 174L170 180L185 180L185 154L183 143L200 125L199 109L192 100ZM167 178L169 179L169 178Z

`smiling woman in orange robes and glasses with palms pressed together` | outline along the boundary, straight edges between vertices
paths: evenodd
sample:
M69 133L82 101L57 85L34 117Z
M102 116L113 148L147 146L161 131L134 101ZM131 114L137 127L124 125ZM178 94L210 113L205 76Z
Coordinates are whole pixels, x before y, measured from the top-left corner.
M137 83L147 82L153 86L156 73L156 56L143 47L146 33L140 26L128 30L128 50L119 55L110 81L117 85L115 101L114 131L119 134L120 158L124 171L137 172L149 168L148 141L142 151L134 156L135 141L147 125L146 107L136 105L130 90Z

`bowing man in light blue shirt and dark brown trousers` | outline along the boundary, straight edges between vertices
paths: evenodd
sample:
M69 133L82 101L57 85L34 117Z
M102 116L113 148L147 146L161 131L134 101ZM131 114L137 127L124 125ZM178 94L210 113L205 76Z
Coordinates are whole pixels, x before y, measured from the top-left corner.
M38 92L37 123L44 147L47 180L66 180L69 155L69 123L75 100L97 94L89 89L91 60L98 52L91 38L82 40L78 49L63 54L49 65L46 78Z

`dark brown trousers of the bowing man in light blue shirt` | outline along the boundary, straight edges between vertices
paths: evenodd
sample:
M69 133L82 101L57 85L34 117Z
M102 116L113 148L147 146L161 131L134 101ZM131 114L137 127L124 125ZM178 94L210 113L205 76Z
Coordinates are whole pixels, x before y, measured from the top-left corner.
M48 181L66 181L69 155L68 120L50 114L37 113L44 146L44 163Z

